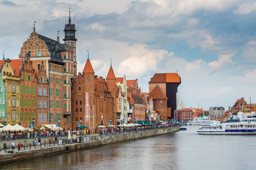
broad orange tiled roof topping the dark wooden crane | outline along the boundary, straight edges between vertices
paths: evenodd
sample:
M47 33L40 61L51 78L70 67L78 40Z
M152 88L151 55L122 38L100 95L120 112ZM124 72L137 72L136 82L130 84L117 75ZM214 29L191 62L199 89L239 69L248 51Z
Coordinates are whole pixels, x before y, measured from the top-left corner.
M148 83L154 82L180 82L180 76L177 73L156 73Z

